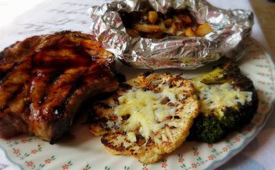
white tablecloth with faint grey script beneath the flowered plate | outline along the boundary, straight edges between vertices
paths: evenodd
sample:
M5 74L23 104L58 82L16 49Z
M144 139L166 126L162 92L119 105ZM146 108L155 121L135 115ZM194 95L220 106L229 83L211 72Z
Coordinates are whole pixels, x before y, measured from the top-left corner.
M0 0L0 51L17 40L30 35L47 34L64 29L89 32L87 8L103 0ZM106 1L106 0L105 0ZM209 0L221 8L253 10L248 0ZM61 9L58 5L67 4ZM263 9L264 10L264 9ZM82 12L80 12L82 11ZM47 12L47 15L45 15ZM270 51L259 22L255 17L252 37ZM275 169L275 117L274 112L265 127L241 153L219 169ZM0 150L0 170L14 169Z

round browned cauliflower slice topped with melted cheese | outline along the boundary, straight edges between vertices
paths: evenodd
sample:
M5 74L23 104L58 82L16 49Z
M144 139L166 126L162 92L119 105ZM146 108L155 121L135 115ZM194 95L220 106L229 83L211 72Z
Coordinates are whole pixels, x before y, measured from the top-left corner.
M199 112L192 83L170 74L144 73L94 104L89 128L112 154L149 164L175 150Z

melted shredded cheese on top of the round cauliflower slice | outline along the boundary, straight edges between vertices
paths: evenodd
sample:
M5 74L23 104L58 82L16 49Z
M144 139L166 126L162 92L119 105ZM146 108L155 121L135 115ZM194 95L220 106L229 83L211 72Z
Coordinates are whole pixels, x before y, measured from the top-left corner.
M149 138L164 127L166 117L175 112L175 107L163 103L168 97L169 101L177 99L177 88L164 88L164 93L154 93L151 90L144 91L140 88L132 88L118 98L119 106L115 108L115 114L122 117L127 114L129 119L124 123L125 131L139 130L144 138ZM133 139L133 135L129 134Z

